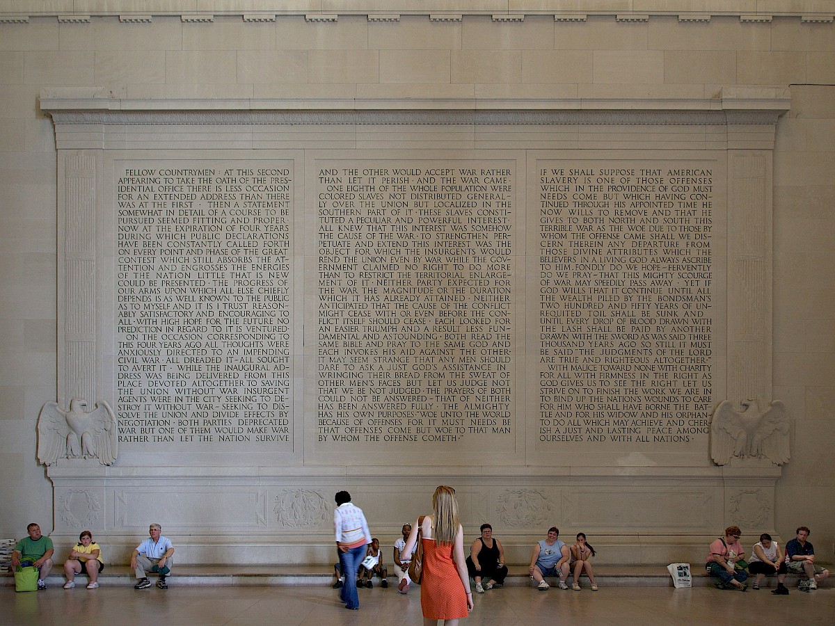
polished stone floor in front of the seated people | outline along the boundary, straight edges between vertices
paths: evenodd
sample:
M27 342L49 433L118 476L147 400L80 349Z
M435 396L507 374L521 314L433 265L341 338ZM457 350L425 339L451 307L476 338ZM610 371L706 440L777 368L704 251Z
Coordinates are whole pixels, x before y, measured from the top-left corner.
M360 610L348 611L338 592L329 587L177 587L135 591L101 587L94 591L64 590L15 593L0 588L0 623L130 626L131 624L362 624L398 626L423 624L420 593L400 595L393 587L360 590ZM835 617L835 588L788 596L767 589L746 593L712 587L689 589L601 587L592 592L539 592L505 587L477 594L475 609L461 626L536 626L537 624L783 624L829 623ZM556 618L556 619L555 619Z

